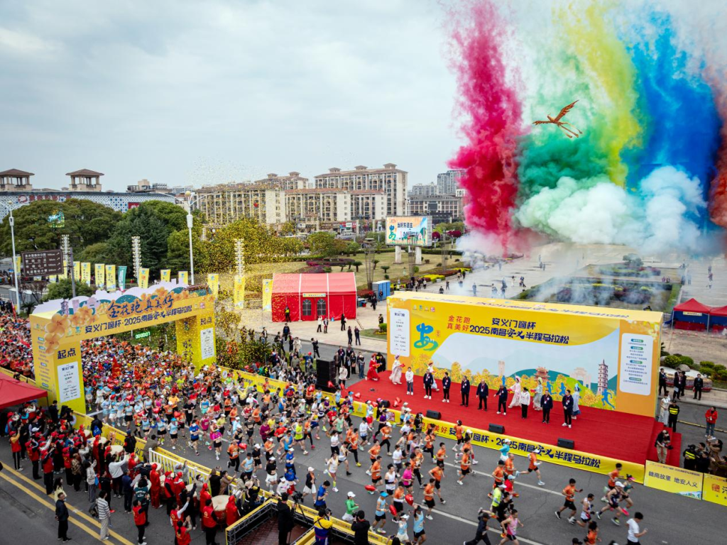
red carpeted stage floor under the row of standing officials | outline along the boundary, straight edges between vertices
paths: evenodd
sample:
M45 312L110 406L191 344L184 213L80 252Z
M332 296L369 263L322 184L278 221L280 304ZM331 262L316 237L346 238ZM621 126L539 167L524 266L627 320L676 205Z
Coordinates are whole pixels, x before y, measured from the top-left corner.
M524 420L521 418L519 406L510 409L507 416L497 414L497 400L492 389L490 389L487 401L488 411L478 411L478 397L475 395L476 384L472 384L470 387L470 406L465 408L459 405L461 401L459 383L452 382L450 403L442 403L441 381L437 381L440 391L433 392L431 400L425 400L421 376L414 377L414 395L411 396L406 395L406 383L403 382L403 377L402 384L399 386L391 383L389 374L389 371L385 371L379 374L381 379L377 382L362 380L347 389L354 394L360 392L361 401L376 400L380 397L393 403L395 397L399 397L402 402L409 403L409 407L414 413L426 413L427 409L440 411L443 421L454 423L462 420L467 427L487 429L489 424L502 424L505 426L505 433L513 437L549 445L557 444L558 437L563 437L563 439L573 440L577 451L633 461L638 464L643 464L647 458L656 461L654 439L662 429L662 424L657 424L653 418L647 416L581 407L581 414L573 421L573 427L568 429L561 426L563 408L560 401L555 401L553 410L550 411L550 424L542 424L542 413L534 411L532 406L529 408L528 418ZM510 400L512 400L512 395L507 400L508 405ZM674 434L672 444L674 449L670 451L668 461L670 464L678 465L680 434Z

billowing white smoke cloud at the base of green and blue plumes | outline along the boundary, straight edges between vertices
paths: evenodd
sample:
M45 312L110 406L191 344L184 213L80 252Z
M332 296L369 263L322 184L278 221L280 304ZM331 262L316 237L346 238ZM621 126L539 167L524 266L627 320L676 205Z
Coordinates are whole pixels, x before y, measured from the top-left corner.
M647 254L674 249L706 249L699 215L706 211L699 179L673 166L662 166L644 178L637 193L606 177L558 180L520 207L523 227L574 243L626 244Z

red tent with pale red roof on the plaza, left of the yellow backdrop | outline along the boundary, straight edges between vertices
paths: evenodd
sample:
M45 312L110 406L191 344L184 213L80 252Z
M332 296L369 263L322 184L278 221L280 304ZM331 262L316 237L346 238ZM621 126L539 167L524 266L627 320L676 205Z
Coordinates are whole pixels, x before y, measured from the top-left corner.
M356 318L356 275L354 273L274 274L273 322L315 321L318 316L346 320Z

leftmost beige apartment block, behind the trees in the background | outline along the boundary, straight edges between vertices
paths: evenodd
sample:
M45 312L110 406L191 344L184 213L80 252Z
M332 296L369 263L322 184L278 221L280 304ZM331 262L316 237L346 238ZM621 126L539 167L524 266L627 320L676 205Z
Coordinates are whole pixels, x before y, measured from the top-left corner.
M208 185L197 191L193 207L206 217L209 227L222 227L243 217L279 225L287 221L285 192L257 184Z

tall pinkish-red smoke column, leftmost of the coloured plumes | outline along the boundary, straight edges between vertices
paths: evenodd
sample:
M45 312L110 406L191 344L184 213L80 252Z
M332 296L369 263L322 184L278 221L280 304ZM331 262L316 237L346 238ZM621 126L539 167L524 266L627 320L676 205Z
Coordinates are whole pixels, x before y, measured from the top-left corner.
M517 139L522 134L517 81L507 71L503 51L509 31L489 0L465 2L451 13L449 23L467 141L449 166L464 170L459 185L467 192L467 225L494 236L507 249L516 243L512 210L518 194Z

